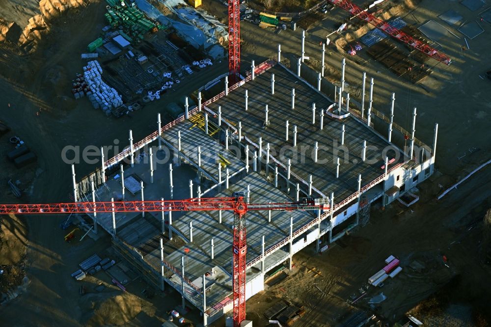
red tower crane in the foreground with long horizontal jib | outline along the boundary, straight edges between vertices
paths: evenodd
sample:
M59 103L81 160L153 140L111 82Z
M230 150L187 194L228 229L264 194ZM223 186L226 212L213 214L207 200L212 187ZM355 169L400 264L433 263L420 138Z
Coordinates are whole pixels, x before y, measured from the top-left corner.
M234 197L192 198L169 201L72 202L51 204L0 204L0 215L7 214L92 214L143 211L216 211L233 210L233 294L234 327L246 319L246 213L259 210L328 210L326 200L306 198L300 202L247 203L244 193Z

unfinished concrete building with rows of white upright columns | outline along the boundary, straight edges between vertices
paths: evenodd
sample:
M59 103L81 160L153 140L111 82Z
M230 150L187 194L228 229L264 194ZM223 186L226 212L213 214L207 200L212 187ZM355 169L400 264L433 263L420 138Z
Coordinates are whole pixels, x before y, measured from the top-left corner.
M280 53L278 53L278 59ZM315 243L316 250L369 220L434 169L433 147L369 105L354 106L341 87L333 100L277 60L252 69L197 106L107 161L79 183L77 201L230 197L249 202L329 202L327 211L247 213L246 299L264 290L265 276ZM342 66L344 76L344 63ZM373 80L372 80L373 81ZM324 79L322 82L326 82ZM331 85L334 89L335 86ZM367 92L368 93L368 92ZM365 87L363 86L363 99ZM392 102L393 112L393 102ZM379 133L374 129L386 131ZM406 201L407 202L407 201ZM94 214L94 228L155 287L173 287L203 314L206 326L232 309L232 212ZM324 240L324 241L323 241Z

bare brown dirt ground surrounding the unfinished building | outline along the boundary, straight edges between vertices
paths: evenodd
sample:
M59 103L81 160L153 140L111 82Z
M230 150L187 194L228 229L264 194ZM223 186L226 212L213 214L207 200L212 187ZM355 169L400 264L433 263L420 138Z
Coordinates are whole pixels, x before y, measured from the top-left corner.
M26 181L27 185L32 185L32 193L19 201L67 201L71 171L70 166L60 159L61 149L65 145L80 145L81 148L91 144L109 145L113 144L114 139L120 139L122 144L126 144L127 131L130 128L134 138L140 139L153 131L151 126L155 124L157 113L167 101L164 99L159 104L149 105L137 112L134 118L114 120L92 109L84 99L75 101L72 98L69 83L71 77L81 71L80 54L105 25L104 1L82 4L78 9L72 8L57 18L51 18L49 30L41 33L45 29L34 29L37 34L30 37L39 37L39 41L35 43L35 51L23 56L13 56L10 52L12 45L8 42L3 43L0 50L1 120L25 140L30 148L35 149L38 156L35 170L39 173L37 177L33 176ZM205 6L219 19L226 17L226 7L217 0L209 1ZM17 14L19 20L16 24L19 24L21 30L29 15L35 11L33 7L35 6L32 3L26 3L26 15ZM1 12L6 10L3 6L0 8ZM409 24L419 26L429 19L437 19L436 16L447 9L459 11L464 20L475 19L475 13L470 13L457 1L443 0L424 0L417 8L404 12L402 17ZM9 19L7 16L3 17ZM309 29L306 54L319 59L319 40L337 28L346 17L347 13L335 9L330 12L328 19ZM477 324L481 308L479 303L489 303L491 300L489 285L482 282L489 279L490 272L489 266L481 265L477 254L474 254L477 253L480 239L479 225L468 229L483 216L481 210L475 211L476 208L485 211L486 207L490 207L490 170L487 168L478 173L440 202L436 202L435 195L440 191L438 184L450 186L475 166L489 159L491 84L490 81L480 79L479 75L489 68L489 63L481 58L491 49L491 39L487 34L491 27L483 27L486 32L476 39L468 40L470 50L465 52L460 50L463 37L457 39L450 36L440 40L444 52L452 57L453 63L450 66L432 65L435 73L424 82L425 88L397 78L373 60L347 58L346 79L349 88L353 88L352 94L356 94L356 89L360 88L362 72L366 71L368 77L375 78L375 108L388 113L390 94L395 92L394 120L409 130L410 109L416 106L416 136L428 144L433 139L434 123L439 123L436 165L441 176L421 186L420 192L424 196L420 194L421 200L410 209L402 210L397 205L392 205L382 211L374 207L370 225L343 238L325 254L314 255L312 248L297 254L294 258L297 267L287 279L247 302L247 317L254 320L255 326L265 325L262 312L280 298L306 306L307 315L300 320L298 326L339 325L346 313L353 310L346 304L346 300L357 292L370 275L380 270L383 259L389 254L404 258L406 261L403 263L414 258L425 261L429 271L414 278L410 276L409 268L405 268L400 276L391 280L384 288L372 291L373 293L365 297L368 299L380 292L387 296L385 303L382 302L373 310L392 320L440 289L438 299L445 304L443 311L451 312L455 308L464 312L463 316L470 317L469 324ZM282 45L283 56L298 55L300 35L299 29L274 34L272 29L264 30L243 23L243 67L247 69L252 59L257 63L267 57L276 57L278 43ZM334 72L339 71L343 54L335 46L336 40L332 41L327 48L327 71L339 74ZM226 69L225 63L214 65L206 74L195 76L189 89L178 89L173 96L190 94L212 76L223 73ZM339 79L338 75L334 76ZM37 116L36 112L40 108L41 114ZM5 137L2 136L0 140L5 141ZM471 148L479 151L471 154ZM459 160L464 154L465 157ZM84 176L94 168L93 165L79 164L77 176ZM2 202L17 201L10 195L3 194L0 194ZM131 285L129 295L124 297L120 293L113 293L116 290L108 290L104 296L98 296L94 304L81 297L78 284L69 275L87 253L107 248L109 239L106 237L95 242L87 238L77 244L66 244L63 241L65 232L58 228L62 219L59 216L31 216L25 219L26 228L15 229L13 232L13 239L17 241L12 242L22 241L27 246L26 255L18 257L24 258L21 261L25 260L29 286L25 294L7 306L0 307L1 325L98 326L110 318L113 319L111 324L130 321L130 325L134 326L157 326L166 316L165 311L180 303L180 298L174 291L152 300L143 299L140 292L145 288L145 283L140 281ZM19 220L16 223L22 224ZM19 249L17 252L22 253L22 245L16 248ZM440 258L443 254L449 258L450 268L442 266ZM315 267L322 276L313 277L313 273L309 273L310 270L306 267ZM434 278L433 275L439 278ZM450 286L444 286L449 280L452 280L452 283L447 284ZM314 287L314 283L319 283L315 286L321 291ZM108 306L131 306L132 309L121 316L108 317L105 309ZM356 306L361 309L369 308L365 300L360 300ZM141 310L138 310L139 307ZM96 314L88 317L86 314L92 309L96 310ZM135 318L132 320L133 317ZM465 317L462 319L466 319ZM196 312L193 320L199 321Z

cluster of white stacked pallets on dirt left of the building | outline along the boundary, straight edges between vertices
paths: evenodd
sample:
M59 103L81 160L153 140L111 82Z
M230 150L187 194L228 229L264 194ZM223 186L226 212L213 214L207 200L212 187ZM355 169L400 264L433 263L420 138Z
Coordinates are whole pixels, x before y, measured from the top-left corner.
M111 109L123 105L123 100L118 92L106 84L102 78L102 68L97 60L87 62L83 67L83 77L88 84L87 97L95 109L102 109L106 115L111 114Z

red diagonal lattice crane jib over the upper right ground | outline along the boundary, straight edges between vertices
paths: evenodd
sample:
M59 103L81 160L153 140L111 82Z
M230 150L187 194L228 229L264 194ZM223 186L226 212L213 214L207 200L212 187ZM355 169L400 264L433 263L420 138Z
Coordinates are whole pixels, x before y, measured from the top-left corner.
M450 65L450 62L452 60L446 54L438 52L435 48L430 47L428 44L413 38L412 36L404 33L403 31L400 31L395 27L392 27L387 22L378 19L374 15L368 13L367 11L364 11L363 9L351 3L350 1L348 0L327 0L327 1L334 5L337 5L338 7L343 8L344 10L358 17L359 19L362 19L370 23L371 25L381 29L382 31L398 39L399 41L409 44L409 46L413 47L414 49L417 49L422 53L432 58L435 58L438 61L443 62L444 64Z

